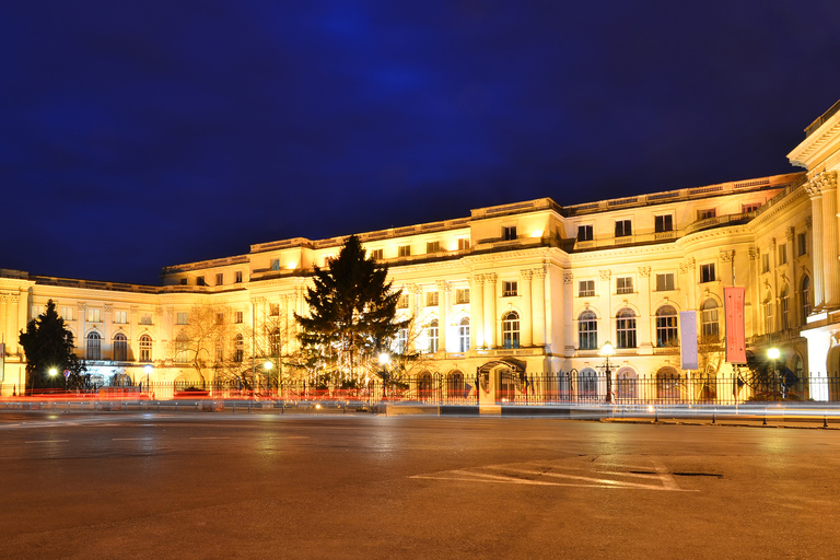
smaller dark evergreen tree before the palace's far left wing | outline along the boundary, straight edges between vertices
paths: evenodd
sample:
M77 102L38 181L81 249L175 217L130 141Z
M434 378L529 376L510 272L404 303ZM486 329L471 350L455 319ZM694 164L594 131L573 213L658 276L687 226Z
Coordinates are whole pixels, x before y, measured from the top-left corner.
M83 383L86 368L73 353L73 334L65 327L65 319L58 316L52 300L47 302L44 313L26 324L20 342L26 352L26 387L65 388ZM56 375L49 374L52 369ZM70 372L68 380L65 380L65 370Z

